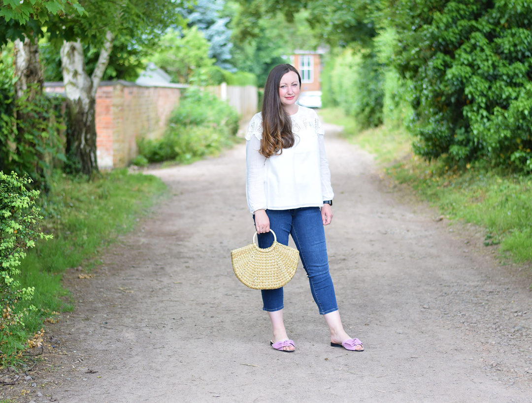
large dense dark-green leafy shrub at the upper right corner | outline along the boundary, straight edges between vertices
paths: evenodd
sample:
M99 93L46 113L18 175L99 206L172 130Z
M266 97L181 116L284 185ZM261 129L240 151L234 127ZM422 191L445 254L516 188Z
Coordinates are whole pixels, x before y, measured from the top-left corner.
M396 66L412 83L415 152L531 172L532 3L397 4Z

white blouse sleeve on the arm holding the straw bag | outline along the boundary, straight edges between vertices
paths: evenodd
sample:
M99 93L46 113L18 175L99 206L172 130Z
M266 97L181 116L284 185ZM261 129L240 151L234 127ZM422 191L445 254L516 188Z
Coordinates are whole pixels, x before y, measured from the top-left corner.
M246 137L246 197L250 213L267 208L264 191L266 157L259 153L261 141L256 136Z

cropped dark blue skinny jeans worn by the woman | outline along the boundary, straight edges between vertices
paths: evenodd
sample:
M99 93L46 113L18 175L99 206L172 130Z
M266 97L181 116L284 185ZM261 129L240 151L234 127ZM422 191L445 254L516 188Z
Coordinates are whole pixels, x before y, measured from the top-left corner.
M288 245L288 234L292 236L301 262L309 278L310 290L320 314L338 310L332 279L329 274L325 231L319 207L301 207L289 210L266 210L270 228L279 244ZM260 248L273 243L271 232L259 234ZM261 290L263 310L275 312L284 307L282 287L275 290Z

